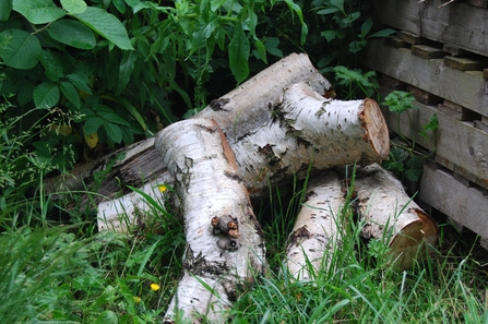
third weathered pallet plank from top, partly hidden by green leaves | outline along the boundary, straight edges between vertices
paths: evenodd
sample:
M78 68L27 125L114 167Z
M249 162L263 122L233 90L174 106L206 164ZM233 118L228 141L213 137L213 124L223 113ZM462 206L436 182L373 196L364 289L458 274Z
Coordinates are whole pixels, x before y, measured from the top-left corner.
M484 188L488 188L488 133L475 129L469 122L461 122L439 113L435 106L426 106L419 103L415 105L419 109L410 111L412 128L407 115L400 115L402 134L408 139L415 136L416 142L424 147L433 147L433 139L430 139L430 143L427 143L418 133L421 131L421 127L428 123L431 116L436 113L439 119L436 160L451 169L454 168L453 165L462 166L466 173L466 176L463 173L464 177ZM397 132L398 113L391 112L386 107L383 107L382 111L386 123L394 132ZM456 171L459 170L456 168ZM474 177L469 177L469 173Z

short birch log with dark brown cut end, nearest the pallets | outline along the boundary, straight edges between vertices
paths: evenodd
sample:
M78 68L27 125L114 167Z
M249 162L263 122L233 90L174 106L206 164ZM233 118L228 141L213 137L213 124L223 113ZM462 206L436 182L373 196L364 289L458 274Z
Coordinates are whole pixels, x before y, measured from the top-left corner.
M366 239L385 239L391 261L410 267L437 241L437 226L406 193L402 182L378 164L357 172L355 190Z

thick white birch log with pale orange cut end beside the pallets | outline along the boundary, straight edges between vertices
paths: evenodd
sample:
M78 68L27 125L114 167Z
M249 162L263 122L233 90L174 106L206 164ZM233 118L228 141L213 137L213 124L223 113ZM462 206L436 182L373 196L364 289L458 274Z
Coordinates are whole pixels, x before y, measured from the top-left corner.
M271 183L317 170L388 157L390 139L380 107L372 99L325 99L306 83L285 91L267 122L230 143L251 193ZM157 143L157 141L156 141Z

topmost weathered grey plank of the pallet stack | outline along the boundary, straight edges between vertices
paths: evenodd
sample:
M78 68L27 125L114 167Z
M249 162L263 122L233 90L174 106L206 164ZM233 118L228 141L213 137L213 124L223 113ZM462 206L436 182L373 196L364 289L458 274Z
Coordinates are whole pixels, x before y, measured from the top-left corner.
M488 10L460 1L422 3L405 0L373 0L376 21L436 41L488 56Z

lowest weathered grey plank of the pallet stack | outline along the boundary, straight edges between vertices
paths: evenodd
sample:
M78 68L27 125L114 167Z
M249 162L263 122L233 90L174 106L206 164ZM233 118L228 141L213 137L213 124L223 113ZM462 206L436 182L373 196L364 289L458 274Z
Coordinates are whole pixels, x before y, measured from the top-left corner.
M468 188L445 170L424 167L418 197L488 239L488 193Z

